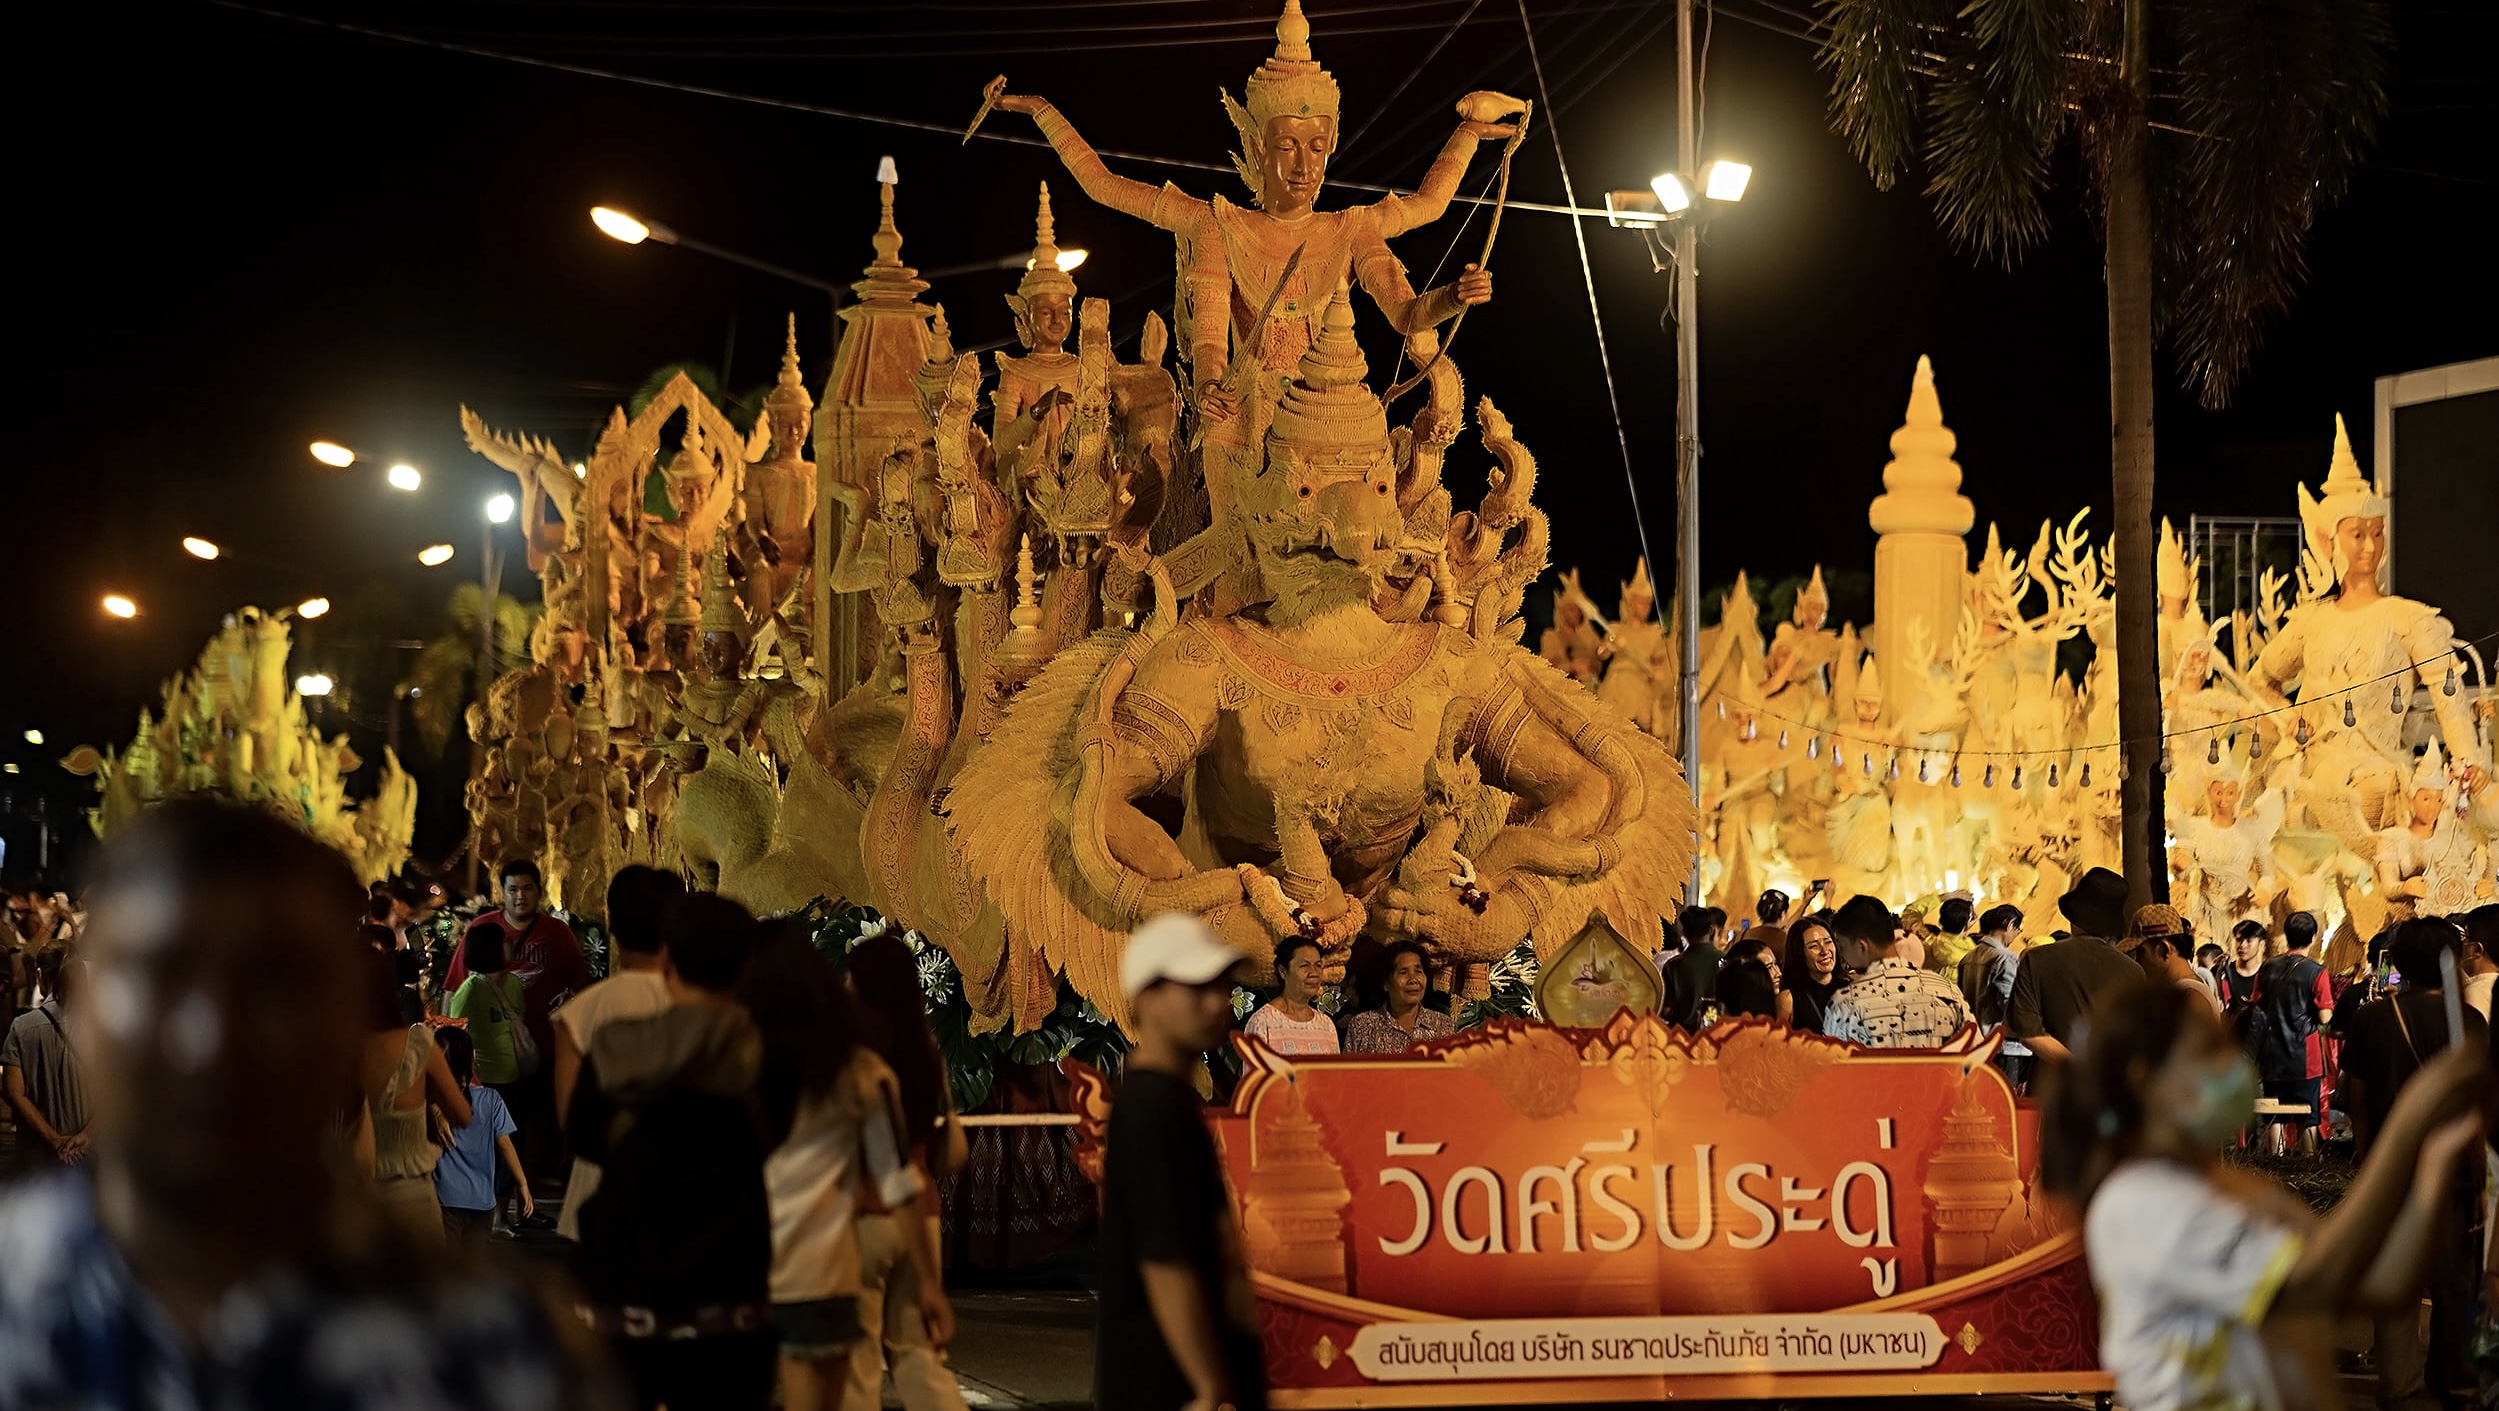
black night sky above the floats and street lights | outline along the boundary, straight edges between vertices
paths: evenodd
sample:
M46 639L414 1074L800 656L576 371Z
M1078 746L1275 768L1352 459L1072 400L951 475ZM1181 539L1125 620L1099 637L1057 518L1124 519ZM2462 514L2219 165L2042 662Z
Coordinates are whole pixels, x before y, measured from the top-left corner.
M1914 180L1877 192L1829 135L1814 50L1779 32L1802 30L1789 7L1724 0L1707 55L1704 157L1749 160L1754 182L1702 250L1704 582L1737 567L1784 577L1817 559L1872 567L1864 507L1919 352L1934 357L1982 529L1994 519L2027 544L2042 517L2094 504L2089 524L2107 532L2104 300L2074 162L2059 167L2054 237L2017 270L1979 265L1934 232ZM1412 185L1459 92L1537 92L1514 0L1479 5L1422 72L1417 60L1464 0L1309 10L1317 57L1344 87L1337 180ZM1264 0L292 12L955 130L980 85L1007 72L1097 147L1192 162L1225 162L1217 85L1237 92L1272 45ZM1532 0L1532 15L1554 107L1539 110L1512 195L1562 200L1552 125L1582 205L1644 185L1674 152L1672 7ZM522 67L240 5L12 17L20 425L7 452L0 739L27 762L30 784L67 742L125 742L157 682L237 604L332 597L342 612L312 647L342 667L357 644L375 657L382 639L440 632L452 582L477 572L480 502L512 487L460 445L462 402L577 455L607 407L665 362L717 365L727 350L732 390L765 382L785 310L820 385L820 295L685 250L615 245L592 232L592 205L852 280L870 257L880 155L902 172L905 262L925 270L1030 247L1032 190L1047 177L1060 245L1092 250L1080 290L1125 295L1115 327L1130 350L1145 312L1170 302L1170 237L1087 202L1042 147L965 147L945 132ZM2399 82L2379 157L2319 222L2309 287L2269 332L2237 407L2202 412L2164 382L2159 507L2172 517L2289 514L2292 482L2324 472L2332 412L2352 420L2367 457L2374 377L2499 352L2499 22L2467 0L2397 5L2394 17ZM1032 135L1015 115L987 130ZM1489 175L1492 152L1467 190ZM1212 170L1112 167L1247 200ZM1349 200L1369 197L1337 190L1327 205ZM1459 235L1459 212L1397 242L1417 287ZM1667 552L1667 277L1632 235L1602 222L1584 235L1649 537ZM1472 252L1479 237L1477 217L1457 245ZM1554 564L1582 564L1612 607L1637 547L1569 220L1512 212L1492 270L1494 302L1469 317L1454 362L1469 400L1492 395L1542 460ZM1007 337L1000 295L1012 282L965 275L927 297L947 305L957 347L970 347ZM1369 302L1357 317L1384 382L1382 320ZM377 465L322 470L305 455L315 437L382 465L407 460L425 489L395 494ZM1464 442L1452 479L1477 477L1482 462ZM1459 487L1459 504L1472 497ZM237 554L187 559L185 534ZM420 569L415 552L430 542L460 557ZM142 617L102 617L105 592L127 592ZM332 724L372 724L377 712ZM27 727L50 747L17 744Z

